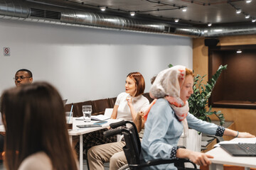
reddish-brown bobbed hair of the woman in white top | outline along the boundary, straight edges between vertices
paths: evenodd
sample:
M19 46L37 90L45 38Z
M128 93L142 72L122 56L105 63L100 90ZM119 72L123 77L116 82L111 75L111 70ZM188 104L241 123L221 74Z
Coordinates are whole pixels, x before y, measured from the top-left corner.
M127 75L127 77L135 80L135 84L137 87L135 97L144 94L145 80L142 74L140 74L139 72L131 72Z

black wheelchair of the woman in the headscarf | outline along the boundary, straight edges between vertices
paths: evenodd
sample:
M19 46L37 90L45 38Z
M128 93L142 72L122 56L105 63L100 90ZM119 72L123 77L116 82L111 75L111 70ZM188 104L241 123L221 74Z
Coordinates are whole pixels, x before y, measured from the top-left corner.
M127 124L131 124L132 126L127 127ZM140 154L142 150L142 145L139 140L139 134L137 132L136 125L130 121L122 120L119 123L112 123L110 124L112 130L107 130L104 132L104 135L107 137L113 135L124 135L124 141L126 145L123 147L125 157L127 158L127 165L122 166L119 170L124 169L131 169L137 170L142 169L146 166L155 166L159 164L174 164L174 166L186 169L184 167L185 162L189 162L193 164L194 169L196 169L196 164L189 161L188 159L154 159L148 162L142 162L140 160Z

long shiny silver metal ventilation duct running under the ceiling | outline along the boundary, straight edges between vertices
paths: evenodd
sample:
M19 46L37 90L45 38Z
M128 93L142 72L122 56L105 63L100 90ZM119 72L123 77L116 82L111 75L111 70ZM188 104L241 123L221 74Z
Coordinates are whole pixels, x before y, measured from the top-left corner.
M193 28L190 26L110 16L60 6L36 4L21 0L0 0L0 18L191 37L217 37L256 33L256 26L253 26L253 24L236 27Z

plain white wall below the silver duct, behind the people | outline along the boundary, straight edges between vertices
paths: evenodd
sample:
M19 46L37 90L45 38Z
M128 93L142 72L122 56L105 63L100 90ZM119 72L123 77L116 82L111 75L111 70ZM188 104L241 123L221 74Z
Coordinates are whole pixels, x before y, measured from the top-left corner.
M142 73L148 92L151 77L169 63L192 68L191 38L0 19L0 92L22 68L68 103L117 96L129 72Z

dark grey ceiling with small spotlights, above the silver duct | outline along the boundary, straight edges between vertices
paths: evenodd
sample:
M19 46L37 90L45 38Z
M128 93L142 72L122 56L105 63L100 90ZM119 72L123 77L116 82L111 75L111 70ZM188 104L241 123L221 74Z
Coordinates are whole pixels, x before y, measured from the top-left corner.
M256 0L246 3L245 0L29 0L43 4L55 4L68 8L79 8L85 11L107 13L114 16L124 16L148 21L161 21L186 26L207 27L229 26L252 23L256 19ZM61 4L61 5L60 5ZM106 11L100 11L100 6L105 6ZM187 7L186 12L183 8ZM241 9L240 14L236 9ZM130 11L135 11L135 16L130 16ZM246 15L250 18L245 18Z

